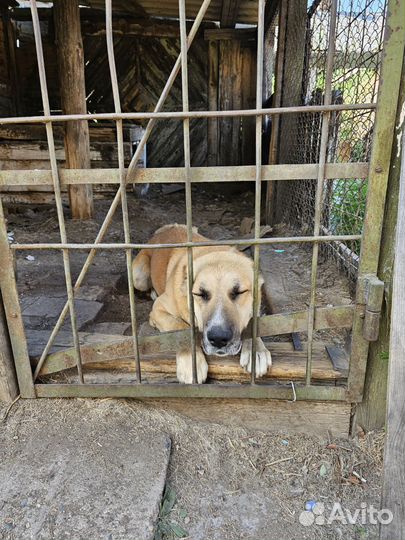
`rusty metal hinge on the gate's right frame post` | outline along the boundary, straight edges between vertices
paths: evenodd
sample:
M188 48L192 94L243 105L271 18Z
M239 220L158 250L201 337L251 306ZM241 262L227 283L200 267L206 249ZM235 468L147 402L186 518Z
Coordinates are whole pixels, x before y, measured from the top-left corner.
M377 341L384 298L384 282L374 275L364 276L364 298L363 337L367 341Z

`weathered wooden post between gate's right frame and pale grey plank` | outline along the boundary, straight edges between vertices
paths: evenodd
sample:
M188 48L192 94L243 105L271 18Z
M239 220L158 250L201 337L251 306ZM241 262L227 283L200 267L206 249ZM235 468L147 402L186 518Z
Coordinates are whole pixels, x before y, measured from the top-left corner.
M401 140L405 133L405 122L401 115L405 107L405 60L402 66L402 84L399 93L397 126L388 179L385 203L384 224L382 230L378 277L385 283L384 302L381 312L380 334L378 341L371 343L362 403L357 405L355 426L366 431L379 429L385 424L388 357L390 340L390 317L392 304L392 274L395 256L395 229L398 212L398 194L401 169Z

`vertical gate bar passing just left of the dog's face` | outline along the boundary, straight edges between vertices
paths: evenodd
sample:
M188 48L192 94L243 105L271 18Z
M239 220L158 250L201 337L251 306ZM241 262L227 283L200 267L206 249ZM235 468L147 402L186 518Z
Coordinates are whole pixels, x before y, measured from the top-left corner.
M183 111L188 112L188 67L187 67L187 34L186 34L186 6L185 0L179 0L179 22L180 22L180 48L181 48L181 89ZM186 224L187 224L187 241L193 241L193 212L191 198L191 181L190 181L190 119L183 120L183 144L184 144L184 180L186 183ZM196 330L195 330L195 314L194 314L194 268L193 268L193 248L187 248L187 300L190 310L190 339L191 339L191 361L193 370L193 384L197 384L197 353L196 353Z

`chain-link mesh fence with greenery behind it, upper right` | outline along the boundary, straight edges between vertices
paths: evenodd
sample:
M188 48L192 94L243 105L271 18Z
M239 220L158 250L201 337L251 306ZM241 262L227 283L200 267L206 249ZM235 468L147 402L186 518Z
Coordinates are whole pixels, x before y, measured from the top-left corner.
M372 103L377 99L379 67L383 46L385 0L339 0L332 76L333 103ZM301 102L322 104L325 90L329 2L315 0L308 8L306 50ZM364 162L370 156L374 125L370 110L339 111L332 114L327 161ZM299 116L290 133L293 151L290 163L317 163L321 138L321 115ZM291 182L283 191L282 219L300 230L311 230L314 219L316 181ZM367 179L325 180L322 232L360 234L367 195ZM323 247L351 278L355 278L360 242L334 242Z

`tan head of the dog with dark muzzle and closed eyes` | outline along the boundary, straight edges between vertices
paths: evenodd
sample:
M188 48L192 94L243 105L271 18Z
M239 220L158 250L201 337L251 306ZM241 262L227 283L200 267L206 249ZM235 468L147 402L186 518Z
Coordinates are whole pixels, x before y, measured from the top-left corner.
M259 276L259 291L262 283ZM194 262L193 297L205 353L237 354L242 331L253 314L253 261L236 250L198 257Z

